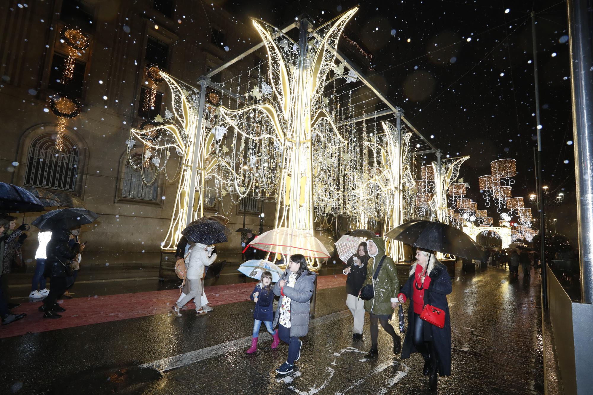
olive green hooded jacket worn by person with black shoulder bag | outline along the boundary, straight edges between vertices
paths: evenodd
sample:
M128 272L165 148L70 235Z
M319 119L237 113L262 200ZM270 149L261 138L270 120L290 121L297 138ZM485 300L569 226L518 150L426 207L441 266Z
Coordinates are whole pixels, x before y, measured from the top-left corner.
M397 279L396 265L393 263L393 259L389 256L385 256L385 241L381 237L374 237L371 240L375 246L377 246L377 255L371 256L368 260L366 269L366 281L362 286L366 284L373 285L373 291L375 292L374 298L365 301L365 310L368 313L375 315L387 315L393 314L393 308L391 302L397 301L397 294L400 290L400 282ZM369 253L370 254L370 253ZM383 266L379 270L377 279L374 280L375 270L381 262L381 258L385 256L383 260Z

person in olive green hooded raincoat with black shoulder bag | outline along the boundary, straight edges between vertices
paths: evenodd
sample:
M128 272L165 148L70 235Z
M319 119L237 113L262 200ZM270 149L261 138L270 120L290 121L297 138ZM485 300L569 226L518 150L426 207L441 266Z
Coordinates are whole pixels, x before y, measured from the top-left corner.
M374 237L367 241L368 253L371 256L368 260L366 270L366 281L363 286L367 284L373 285L375 296L368 301L365 301L365 310L368 311L371 317L371 350L366 353L365 358L377 358L377 337L379 335L378 323L385 332L389 333L393 338L393 353L398 354L401 351L401 337L396 335L396 331L389 323L393 309L397 307L397 294L400 290L400 284L397 279L396 265L393 259L385 255L385 241L381 237ZM377 267L383 261L381 269L374 279Z

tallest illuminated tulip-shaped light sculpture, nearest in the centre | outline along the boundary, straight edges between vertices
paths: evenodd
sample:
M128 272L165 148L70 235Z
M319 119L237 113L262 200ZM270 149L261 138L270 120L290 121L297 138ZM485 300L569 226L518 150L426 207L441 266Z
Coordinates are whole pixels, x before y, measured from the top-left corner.
M323 93L329 72L334 68L337 43L345 24L358 7L350 9L313 32L317 44L312 45L301 37L296 55L285 55L281 41L292 42L279 29L253 20L253 26L263 39L269 63L269 80L278 106L257 103L231 110L221 106L221 124L238 130L250 139L268 139L282 149L282 163L276 190L275 227L313 230L314 190L313 145L326 144L327 155L339 156L340 148L346 146L336 129L336 122L324 109ZM251 116L258 116L263 123L272 126L272 134L260 135L248 129ZM332 158L327 158L331 161ZM321 176L320 173L317 174ZM324 174L324 176L327 176ZM333 174L329 176L339 176ZM246 196L248 188L237 183L237 193ZM336 201L341 196L335 191ZM329 195L329 194L328 194ZM330 202L324 202L326 205Z

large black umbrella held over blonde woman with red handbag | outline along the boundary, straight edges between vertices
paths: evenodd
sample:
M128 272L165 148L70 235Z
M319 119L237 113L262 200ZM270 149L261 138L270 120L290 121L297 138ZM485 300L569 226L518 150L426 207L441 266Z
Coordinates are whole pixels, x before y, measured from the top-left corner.
M385 236L426 250L467 259L483 259L482 251L471 237L457 228L438 221L406 222L388 231Z

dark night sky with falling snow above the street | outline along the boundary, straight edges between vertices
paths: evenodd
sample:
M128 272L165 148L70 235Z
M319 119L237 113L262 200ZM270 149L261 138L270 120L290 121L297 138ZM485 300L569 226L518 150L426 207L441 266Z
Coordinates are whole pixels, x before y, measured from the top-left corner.
M283 26L302 14L327 21L355 5L270 0L228 1L222 7ZM565 2L372 1L361 4L345 33L373 55L371 65L359 66L419 130L434 136L433 144L444 155L471 155L461 176L470 182L469 197L480 208L477 177L490 174L490 161L499 158L517 160L513 196L523 196L528 205L537 143L532 9L537 21L543 179L551 196L566 193L565 202L549 214L562 218L559 232L576 238ZM489 215L494 214L490 208Z

